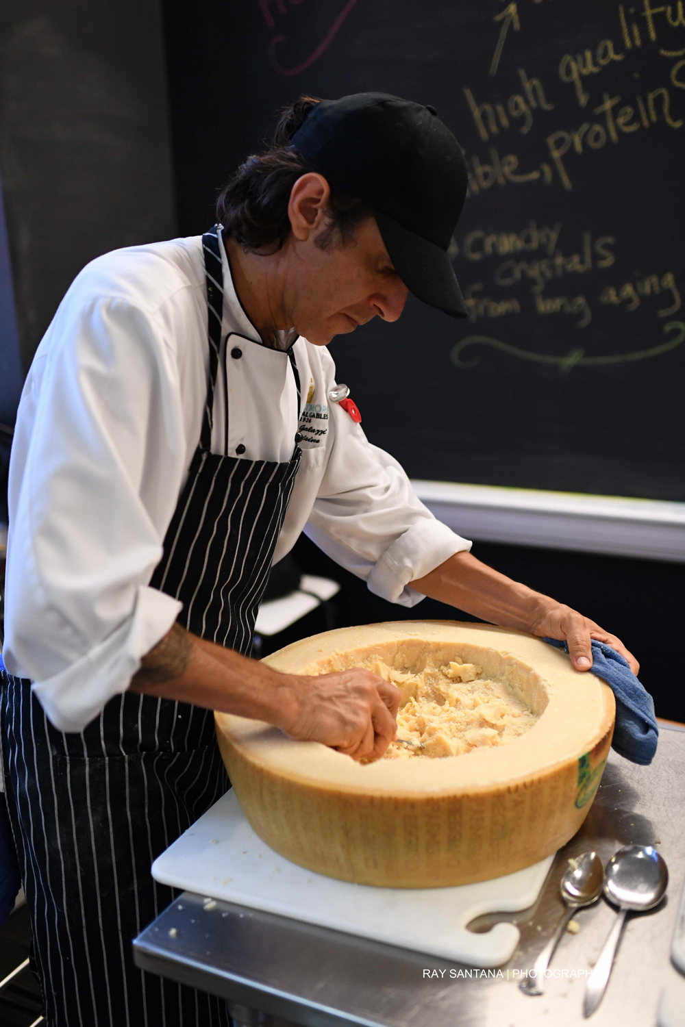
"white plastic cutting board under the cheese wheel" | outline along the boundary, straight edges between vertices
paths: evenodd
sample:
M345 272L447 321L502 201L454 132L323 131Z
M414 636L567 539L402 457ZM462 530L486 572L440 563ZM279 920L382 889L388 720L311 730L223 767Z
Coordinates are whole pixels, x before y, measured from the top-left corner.
M511 958L518 928L498 923L475 935L466 924L483 913L532 906L553 860L452 888L350 884L298 867L269 848L250 827L231 789L155 860L152 876L213 899L489 967Z

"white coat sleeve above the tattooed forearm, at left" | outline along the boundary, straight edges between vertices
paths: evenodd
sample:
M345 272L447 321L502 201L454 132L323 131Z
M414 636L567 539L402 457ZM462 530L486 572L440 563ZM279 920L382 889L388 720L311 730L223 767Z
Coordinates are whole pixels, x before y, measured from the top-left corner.
M178 372L151 314L63 301L23 393L9 478L3 659L78 731L181 604L149 587L185 473Z

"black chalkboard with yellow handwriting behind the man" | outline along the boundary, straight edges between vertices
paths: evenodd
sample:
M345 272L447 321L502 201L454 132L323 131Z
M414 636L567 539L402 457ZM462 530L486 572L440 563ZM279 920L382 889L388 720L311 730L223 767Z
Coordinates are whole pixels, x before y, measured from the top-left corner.
M165 6L182 230L299 93L435 106L464 148L470 308L332 345L413 477L685 500L683 4Z

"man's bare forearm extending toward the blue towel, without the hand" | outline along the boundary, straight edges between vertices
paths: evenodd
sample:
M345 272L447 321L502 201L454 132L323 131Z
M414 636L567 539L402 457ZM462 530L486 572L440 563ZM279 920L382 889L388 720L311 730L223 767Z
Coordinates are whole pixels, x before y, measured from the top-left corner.
M429 574L411 581L410 587L483 620L523 632L532 631L535 621L554 604L554 600L512 581L470 553L455 554Z

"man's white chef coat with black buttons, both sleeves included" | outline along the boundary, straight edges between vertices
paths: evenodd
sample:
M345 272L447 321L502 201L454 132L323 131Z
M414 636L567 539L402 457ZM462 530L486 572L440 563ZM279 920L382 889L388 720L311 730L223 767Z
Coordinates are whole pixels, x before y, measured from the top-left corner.
M413 606L423 597L408 582L470 542L329 401L333 359L303 338L294 344L298 425L288 355L262 345L222 258L213 451L290 460L299 427L302 460L274 561L304 529L376 595ZM36 351L10 462L3 659L34 682L61 730L82 730L123 692L180 612L149 581L198 445L207 368L199 236L92 261Z

